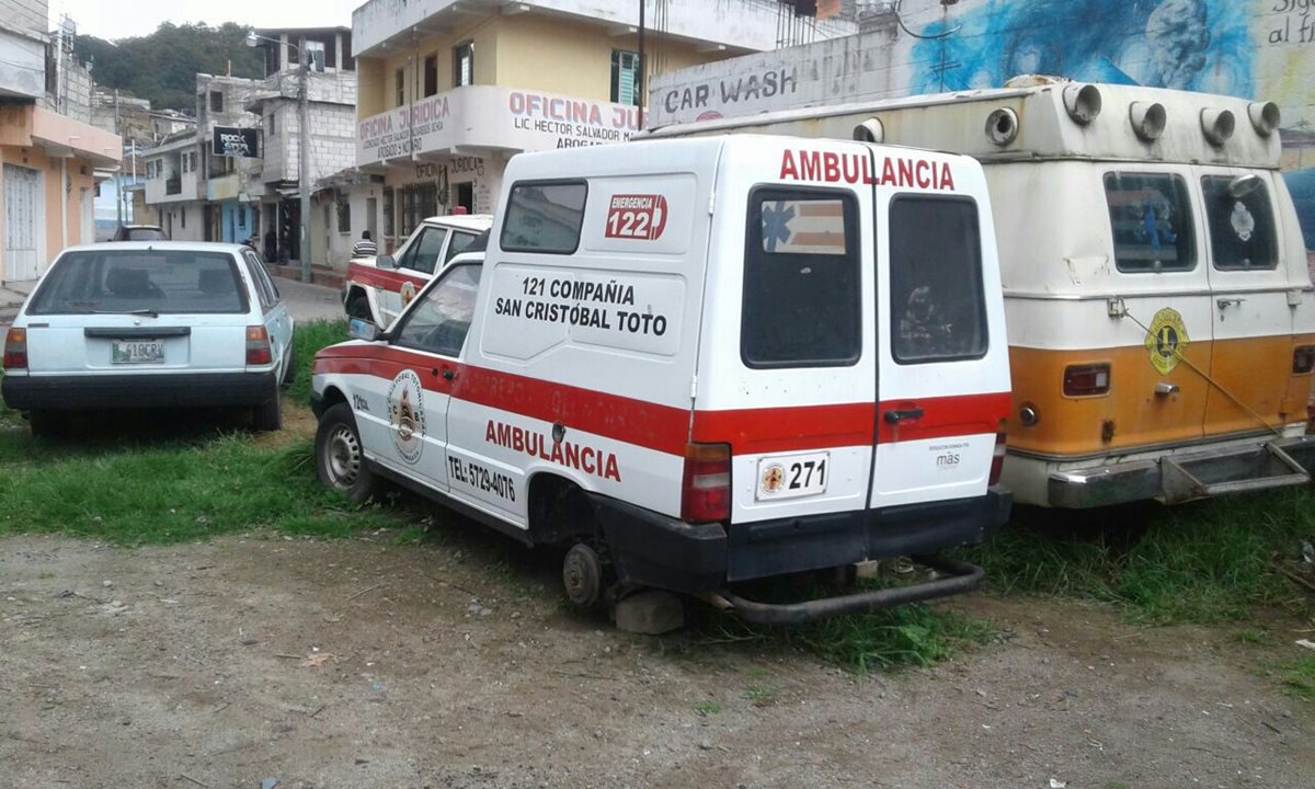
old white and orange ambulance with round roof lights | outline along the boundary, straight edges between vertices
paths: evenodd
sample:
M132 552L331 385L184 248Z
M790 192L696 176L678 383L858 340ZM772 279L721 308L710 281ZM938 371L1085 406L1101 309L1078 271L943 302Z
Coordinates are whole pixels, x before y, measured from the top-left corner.
M1310 481L1315 291L1278 108L1027 78L673 126L968 154L994 201L1024 504L1166 502Z

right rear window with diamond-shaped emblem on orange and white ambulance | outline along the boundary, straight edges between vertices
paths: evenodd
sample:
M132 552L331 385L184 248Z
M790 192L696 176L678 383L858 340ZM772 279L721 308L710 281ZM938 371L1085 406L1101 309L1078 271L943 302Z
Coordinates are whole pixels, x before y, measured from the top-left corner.
M1215 268L1252 271L1278 266L1274 209L1265 181L1258 176L1241 180L1231 175L1207 175L1201 179L1201 192L1206 197Z

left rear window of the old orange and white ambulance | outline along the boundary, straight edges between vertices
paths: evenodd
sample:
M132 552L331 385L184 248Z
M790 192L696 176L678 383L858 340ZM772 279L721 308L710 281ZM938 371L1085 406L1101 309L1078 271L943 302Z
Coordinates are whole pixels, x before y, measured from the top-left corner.
M1197 239L1187 183L1160 172L1106 172L1114 262L1127 274L1191 271Z

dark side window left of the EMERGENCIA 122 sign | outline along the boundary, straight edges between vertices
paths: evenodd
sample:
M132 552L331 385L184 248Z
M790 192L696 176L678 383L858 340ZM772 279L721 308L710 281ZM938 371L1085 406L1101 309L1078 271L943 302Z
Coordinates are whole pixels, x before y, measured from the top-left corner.
M510 252L569 255L580 246L583 181L522 181L512 187L498 245Z

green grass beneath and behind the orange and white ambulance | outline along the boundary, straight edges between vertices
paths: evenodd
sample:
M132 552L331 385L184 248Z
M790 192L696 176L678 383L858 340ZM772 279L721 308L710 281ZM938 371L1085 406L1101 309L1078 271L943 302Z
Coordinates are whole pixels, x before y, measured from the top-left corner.
M1111 509L1080 527L1064 513L1028 521L960 554L986 568L994 590L1109 601L1139 623L1218 623L1299 600L1273 562L1315 534L1315 490Z

